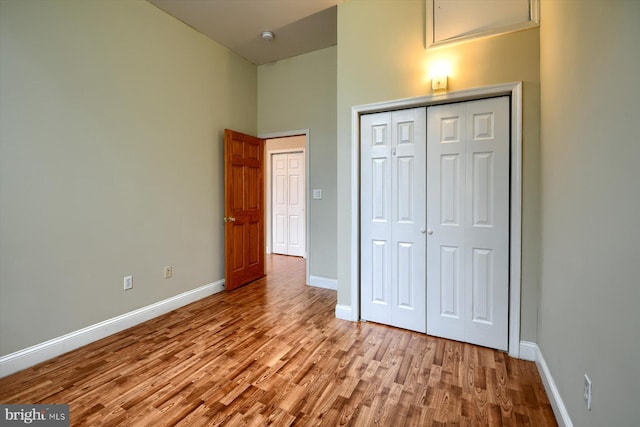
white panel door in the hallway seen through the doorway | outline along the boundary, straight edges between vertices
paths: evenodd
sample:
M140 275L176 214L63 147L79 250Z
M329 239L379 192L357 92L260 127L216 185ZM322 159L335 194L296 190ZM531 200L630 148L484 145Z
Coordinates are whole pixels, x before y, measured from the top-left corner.
M272 252L304 256L304 153L279 153L271 159Z

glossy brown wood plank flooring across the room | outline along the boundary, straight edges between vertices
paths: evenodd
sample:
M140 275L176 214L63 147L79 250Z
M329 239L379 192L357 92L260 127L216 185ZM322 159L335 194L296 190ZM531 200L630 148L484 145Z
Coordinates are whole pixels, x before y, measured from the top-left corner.
M0 379L73 426L555 426L534 363L335 318L305 262Z

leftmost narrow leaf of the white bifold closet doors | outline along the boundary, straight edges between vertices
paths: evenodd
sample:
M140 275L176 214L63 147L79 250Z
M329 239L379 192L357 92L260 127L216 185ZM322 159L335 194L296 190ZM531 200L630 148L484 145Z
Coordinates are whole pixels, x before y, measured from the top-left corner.
M391 113L361 118L360 315L391 322Z

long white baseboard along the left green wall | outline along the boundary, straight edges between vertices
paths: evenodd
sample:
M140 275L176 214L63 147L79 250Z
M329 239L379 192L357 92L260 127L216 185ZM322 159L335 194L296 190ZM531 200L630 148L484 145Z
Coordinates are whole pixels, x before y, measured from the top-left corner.
M224 280L210 283L129 313L0 357L0 378L138 325L224 290Z

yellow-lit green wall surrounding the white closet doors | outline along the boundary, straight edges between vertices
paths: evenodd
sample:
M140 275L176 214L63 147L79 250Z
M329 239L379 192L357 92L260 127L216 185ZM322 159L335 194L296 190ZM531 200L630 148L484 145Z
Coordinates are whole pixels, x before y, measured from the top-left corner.
M539 30L425 50L424 0L338 5L338 304L351 305L351 107L431 93L429 66L452 64L449 90L523 81L522 339L536 340L539 251Z

